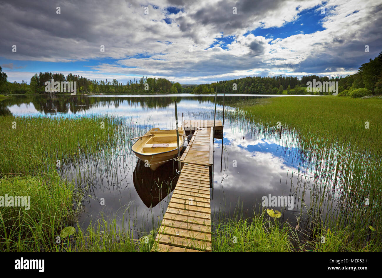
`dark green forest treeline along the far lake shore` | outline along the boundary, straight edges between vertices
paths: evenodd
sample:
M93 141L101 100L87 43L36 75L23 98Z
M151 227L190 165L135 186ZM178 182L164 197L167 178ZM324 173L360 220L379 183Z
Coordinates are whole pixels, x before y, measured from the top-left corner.
M128 81L126 84L118 80L91 80L89 78L62 73L40 72L32 76L29 85L26 81L9 82L7 75L0 67L0 93L45 93L44 83L46 81L76 81L78 93L112 93L112 94L160 94L160 93L194 93L208 94L215 93L239 93L239 94L309 94L306 91L308 81L338 81L338 93L340 95L350 95L351 92L361 89L363 95L382 94L382 51L374 60L364 63L359 67L357 73L345 77L329 78L327 76L306 75L301 79L296 76L247 76L233 80L221 80L210 84L191 85L184 88L180 83L169 81L165 78L142 77L138 80ZM359 90L358 90L359 91ZM320 92L320 94L331 94Z

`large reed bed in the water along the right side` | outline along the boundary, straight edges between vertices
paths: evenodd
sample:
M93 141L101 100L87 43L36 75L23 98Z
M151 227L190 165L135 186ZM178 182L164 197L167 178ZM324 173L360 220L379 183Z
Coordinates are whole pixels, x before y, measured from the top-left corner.
M329 229L335 242L346 237L353 249L382 250L381 99L283 97L234 105L241 109L227 118L242 119L250 133L261 130L276 139L281 122L280 145L292 140L301 159L311 164L314 179L292 184L295 192L304 192L298 210L305 240L314 241L315 231Z

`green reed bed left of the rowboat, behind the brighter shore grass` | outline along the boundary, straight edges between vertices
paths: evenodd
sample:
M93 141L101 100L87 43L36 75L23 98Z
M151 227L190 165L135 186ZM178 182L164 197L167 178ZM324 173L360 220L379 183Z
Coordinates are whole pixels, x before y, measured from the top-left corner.
M0 117L0 175L47 172L121 143L121 126L110 116Z

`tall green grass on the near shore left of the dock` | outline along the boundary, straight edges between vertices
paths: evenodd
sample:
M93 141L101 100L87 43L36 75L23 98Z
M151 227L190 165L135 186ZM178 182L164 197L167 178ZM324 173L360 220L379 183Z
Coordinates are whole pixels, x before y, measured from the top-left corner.
M91 221L81 230L76 219L80 208L73 200L74 185L60 176L3 177L0 179L0 196L30 196L30 208L6 206L0 210L0 251L18 252L126 252L150 251L149 243L134 240L126 232L124 219L104 216ZM76 227L69 237L60 237L67 226Z

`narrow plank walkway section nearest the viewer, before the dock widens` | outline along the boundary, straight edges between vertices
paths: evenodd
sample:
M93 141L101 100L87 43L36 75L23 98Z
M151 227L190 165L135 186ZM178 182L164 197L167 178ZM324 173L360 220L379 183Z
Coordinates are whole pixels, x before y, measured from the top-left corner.
M185 163L152 251L211 251L209 167Z

